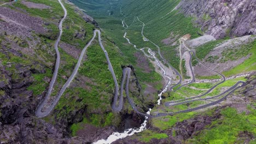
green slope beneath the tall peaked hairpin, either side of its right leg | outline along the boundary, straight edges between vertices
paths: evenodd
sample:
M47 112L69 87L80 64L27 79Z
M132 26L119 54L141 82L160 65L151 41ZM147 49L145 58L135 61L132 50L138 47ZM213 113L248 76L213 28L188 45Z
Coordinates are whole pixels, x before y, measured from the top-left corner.
M102 37L103 40L104 37ZM104 44L110 61L113 65L115 75L117 76L118 82L121 81L122 69L121 65L124 65L125 59L120 57L118 49L113 49L113 44L106 41ZM68 97L70 103L66 104L66 98L63 97L56 106L56 109L62 110L64 106L68 107L59 115L68 115L68 112L77 109L78 107L83 107L88 105L86 109L88 112L109 110L111 98L113 97L114 81L112 74L108 70L106 57L98 43L88 47L88 52L86 53L87 59L80 66L78 73L83 77L90 77L92 82L86 83L88 88L83 88L84 86L78 86L75 88L67 88L66 93L68 95L78 95L82 102L78 102L75 99ZM109 77L109 79L106 79ZM85 78L84 78L85 79ZM74 81L75 82L75 81ZM75 89L75 90L74 90ZM64 94L65 95L65 94ZM108 101L108 103L107 103Z

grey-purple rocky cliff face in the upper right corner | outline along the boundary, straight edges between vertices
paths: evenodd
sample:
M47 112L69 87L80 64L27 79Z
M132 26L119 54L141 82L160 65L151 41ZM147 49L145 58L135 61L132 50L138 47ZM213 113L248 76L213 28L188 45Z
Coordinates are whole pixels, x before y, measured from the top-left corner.
M202 31L217 39L256 34L255 0L182 0L176 9L195 17Z

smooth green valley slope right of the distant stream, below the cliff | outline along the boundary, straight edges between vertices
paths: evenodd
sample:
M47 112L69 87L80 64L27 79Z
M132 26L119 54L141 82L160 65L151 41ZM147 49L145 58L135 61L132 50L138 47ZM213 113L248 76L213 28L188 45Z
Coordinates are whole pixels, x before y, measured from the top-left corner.
M131 23L135 16L138 16L145 24L145 36L153 40L156 44L170 37L170 33L174 35L191 34L192 38L198 37L197 31L192 21L192 17L185 17L178 11L170 11L176 7L179 1L153 1L145 3L144 1L123 1L123 11L126 15L127 23ZM138 7L139 5L139 7ZM158 7L155 7L158 5ZM155 13L148 13L148 11ZM167 15L168 14L168 15ZM177 25L178 24L178 25Z

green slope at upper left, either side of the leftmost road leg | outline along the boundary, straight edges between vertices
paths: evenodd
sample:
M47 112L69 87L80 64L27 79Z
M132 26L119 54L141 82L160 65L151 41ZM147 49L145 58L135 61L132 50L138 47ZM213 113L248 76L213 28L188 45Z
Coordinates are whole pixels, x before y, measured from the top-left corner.
M27 8L26 5L22 4L20 1L15 2L13 5L15 7L24 9L27 13L30 13L32 16L41 17L44 21L47 21L49 25L45 26L48 29L51 29L50 32L45 34L45 37L50 39L56 39L59 34L59 29L56 26L56 22L59 22L61 17L64 15L61 5L57 1L39 1L39 0L30 0L34 3L42 3L50 6L50 9L32 9ZM11 8L11 7L10 7ZM67 9L67 17L63 22L63 33L61 40L75 45L82 49L86 43L92 38L94 25L83 20L82 16L79 15L78 11L75 12L74 7L70 4L65 3L65 8ZM21 11L22 12L22 11ZM53 23L53 21L55 23ZM82 38L76 37L76 34L82 34Z

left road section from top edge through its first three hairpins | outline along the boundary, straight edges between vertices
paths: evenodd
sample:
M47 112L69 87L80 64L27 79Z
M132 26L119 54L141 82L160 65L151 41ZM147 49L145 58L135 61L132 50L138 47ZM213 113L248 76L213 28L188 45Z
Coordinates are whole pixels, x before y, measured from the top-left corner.
M114 83L115 83L115 97L114 97L114 104L117 103L117 97L118 97L118 82L117 82L117 78L115 77L114 74L114 70L112 67L112 64L110 63L109 57L108 57L108 53L107 51L104 49L104 46L102 45L101 42L101 32L100 30L96 29L94 31L94 36L92 37L92 39L89 41L89 43L84 47L82 53L80 54L80 57L78 59L77 65L75 65L75 68L73 70L73 73L71 74L71 76L69 77L69 79L67 80L67 82L65 83L65 85L63 85L63 87L61 88L61 90L59 91L59 93L57 94L57 97L54 99L53 103L43 112L42 109L45 106L45 104L47 103L48 98L51 95L51 91L53 90L54 87L54 83L57 79L57 73L59 71L59 66L60 66L60 52L58 49L58 45L60 42L60 38L61 38L61 34L62 34L62 23L63 21L66 19L67 16L67 10L64 7L64 5L61 3L61 0L59 0L59 3L61 4L62 9L64 10L65 14L63 16L63 18L61 19L60 23L59 23L59 29L60 29L60 34L59 37L57 38L54 47L55 47L55 51L56 51L56 63L55 63L55 70L54 70L54 74L53 74L53 78L51 79L50 85L49 85L49 89L48 89L48 93L46 94L46 97L44 98L44 100L42 101L42 103L40 103L36 109L36 116L37 117L45 117L47 115L49 115L49 113L54 109L54 107L56 106L56 104L58 103L58 101L60 100L61 95L65 92L66 88L69 86L69 84L72 82L72 80L74 79L75 75L77 74L77 71L81 65L81 62L83 60L84 54L86 52L86 49L91 45L92 41L95 39L96 37L96 33L98 33L98 42L101 46L101 49L103 50L103 52L105 53L105 56L107 58L107 62L108 62L108 68L109 71L112 73L113 79L114 79ZM120 96L120 100L119 100L119 106L112 106L114 111L120 111L123 108L123 93Z

